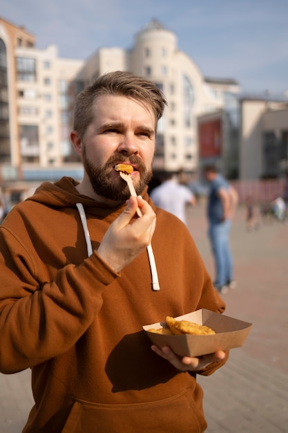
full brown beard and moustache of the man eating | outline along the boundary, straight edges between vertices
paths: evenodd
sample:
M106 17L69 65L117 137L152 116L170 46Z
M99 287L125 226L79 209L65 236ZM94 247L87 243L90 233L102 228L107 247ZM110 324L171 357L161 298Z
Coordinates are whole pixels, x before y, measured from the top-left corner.
M131 196L128 185L123 179L121 179L121 182L117 182L111 177L111 169L118 163L137 165L140 174L137 185L134 185L137 195L144 190L144 187L148 185L152 178L152 168L146 169L142 160L135 155L130 157L124 155L111 156L104 165L99 166L88 160L84 147L82 158L84 169L89 176L94 192L105 199L124 202Z

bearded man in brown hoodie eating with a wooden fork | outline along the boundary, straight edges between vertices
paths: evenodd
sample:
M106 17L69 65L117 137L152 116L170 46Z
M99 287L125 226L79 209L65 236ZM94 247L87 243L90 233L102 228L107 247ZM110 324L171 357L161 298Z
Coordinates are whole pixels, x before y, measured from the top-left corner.
M81 182L43 183L1 225L0 371L32 369L25 433L207 427L195 378L227 352L180 358L142 329L166 315L224 311L186 226L148 197L165 104L142 77L99 77L77 96L70 133ZM137 197L119 164L133 167Z

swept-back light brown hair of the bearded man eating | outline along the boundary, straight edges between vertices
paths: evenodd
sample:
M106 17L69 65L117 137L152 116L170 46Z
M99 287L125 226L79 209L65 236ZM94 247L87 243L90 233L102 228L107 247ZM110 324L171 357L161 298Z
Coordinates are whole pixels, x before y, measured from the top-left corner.
M98 77L76 98L73 129L82 138L93 122L93 104L99 96L126 96L149 104L155 114L155 124L162 117L167 104L160 89L152 82L131 72L115 71Z

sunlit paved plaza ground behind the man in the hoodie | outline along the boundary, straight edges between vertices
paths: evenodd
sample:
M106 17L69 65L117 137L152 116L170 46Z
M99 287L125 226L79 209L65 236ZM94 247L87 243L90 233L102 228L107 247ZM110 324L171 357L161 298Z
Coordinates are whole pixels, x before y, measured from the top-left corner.
M189 230L213 278L204 203L187 213ZM231 231L238 288L223 299L226 315L253 327L222 369L198 379L207 433L287 433L288 225L270 221L247 232L244 214L240 206ZM30 371L0 374L0 433L20 433L31 406Z

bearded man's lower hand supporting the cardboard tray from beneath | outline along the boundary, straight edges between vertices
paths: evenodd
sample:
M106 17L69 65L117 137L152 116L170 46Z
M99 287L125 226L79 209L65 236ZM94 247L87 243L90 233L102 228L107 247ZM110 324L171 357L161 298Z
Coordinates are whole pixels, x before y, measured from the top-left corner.
M190 356L184 356L180 358L177 356L168 346L160 347L153 344L151 349L162 356L162 358L168 360L177 370L180 371L199 371L212 364L212 362L224 360L226 354L224 351L219 350L209 355L199 356L198 358L191 358Z

